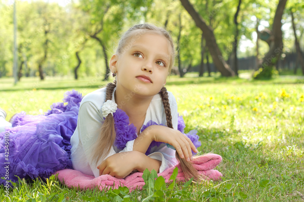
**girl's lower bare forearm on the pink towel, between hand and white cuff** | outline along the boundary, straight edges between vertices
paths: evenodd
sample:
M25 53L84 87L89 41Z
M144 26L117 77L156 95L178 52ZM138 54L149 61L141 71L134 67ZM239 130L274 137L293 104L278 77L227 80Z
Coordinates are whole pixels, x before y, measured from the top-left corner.
M161 161L150 158L141 152L138 154L138 159L136 159L136 161L137 161L136 169L139 172L143 172L145 169L148 169L149 171L154 169L156 170L157 173L159 173L159 168L161 167Z

